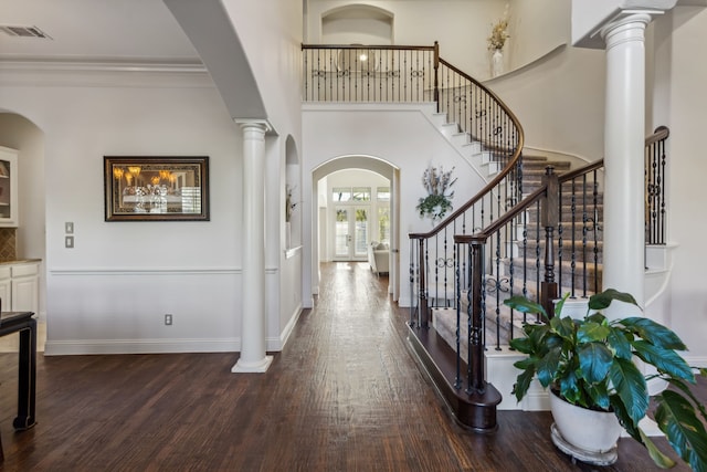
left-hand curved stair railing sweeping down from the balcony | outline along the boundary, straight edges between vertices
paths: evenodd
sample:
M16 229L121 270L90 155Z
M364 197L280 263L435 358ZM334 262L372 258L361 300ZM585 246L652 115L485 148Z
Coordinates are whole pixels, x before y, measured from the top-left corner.
M469 144L478 143L484 158L500 170L432 230L408 234L411 241L411 301L416 300L416 305L411 303L410 324L420 327L426 327L431 319L430 302L434 304L454 285L449 271L454 260L450 252L453 235L460 230L466 232L467 220L474 231L477 216L483 227L486 214L494 220L507 211L520 200L523 185L519 176L525 133L518 117L498 95L444 59L435 59L434 71L437 112L444 113L447 123L456 124L468 135ZM413 249L415 245L416 250Z

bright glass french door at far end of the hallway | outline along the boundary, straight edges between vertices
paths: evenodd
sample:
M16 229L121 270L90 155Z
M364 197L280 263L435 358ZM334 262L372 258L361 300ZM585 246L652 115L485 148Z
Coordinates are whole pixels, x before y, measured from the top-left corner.
M335 212L334 260L366 260L368 256L370 206L337 206Z

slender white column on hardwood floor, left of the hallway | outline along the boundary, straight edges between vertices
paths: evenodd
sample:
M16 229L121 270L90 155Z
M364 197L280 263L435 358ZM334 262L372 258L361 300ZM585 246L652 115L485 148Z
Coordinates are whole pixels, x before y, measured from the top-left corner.
M265 132L264 122L241 122L243 132L243 313L241 357L233 373L264 373L265 355Z

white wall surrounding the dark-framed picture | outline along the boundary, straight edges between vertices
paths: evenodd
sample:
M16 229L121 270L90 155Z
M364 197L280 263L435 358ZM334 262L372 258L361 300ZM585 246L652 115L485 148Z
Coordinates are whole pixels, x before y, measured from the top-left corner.
M46 353L238 350L241 143L208 75L41 72L0 106L44 133ZM105 222L105 155L210 156L211 221Z

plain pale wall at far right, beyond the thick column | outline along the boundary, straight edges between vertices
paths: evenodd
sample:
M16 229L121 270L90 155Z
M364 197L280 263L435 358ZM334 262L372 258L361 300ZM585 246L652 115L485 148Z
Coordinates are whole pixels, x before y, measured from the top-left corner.
M672 36L668 35L672 31ZM668 241L677 244L669 318L690 348L686 356L707 363L707 65L698 60L707 44L707 11L678 7L656 21L656 109L654 125L671 128L668 139Z

